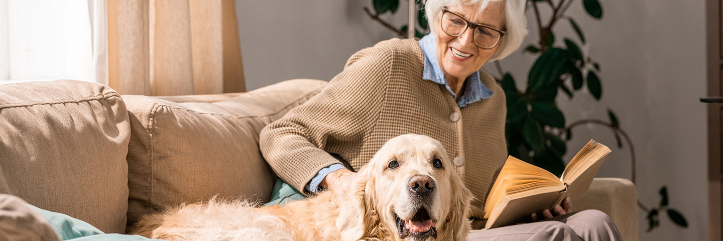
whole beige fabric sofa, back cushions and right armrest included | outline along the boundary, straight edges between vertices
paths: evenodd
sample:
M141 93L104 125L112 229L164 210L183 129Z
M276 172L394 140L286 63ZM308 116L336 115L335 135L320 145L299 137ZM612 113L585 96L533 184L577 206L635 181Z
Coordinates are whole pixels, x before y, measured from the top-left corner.
M259 132L326 84L166 97L77 80L0 85L0 193L121 234L180 203L268 202L277 177ZM596 178L573 208L604 211L624 240L637 240L636 203L628 179Z

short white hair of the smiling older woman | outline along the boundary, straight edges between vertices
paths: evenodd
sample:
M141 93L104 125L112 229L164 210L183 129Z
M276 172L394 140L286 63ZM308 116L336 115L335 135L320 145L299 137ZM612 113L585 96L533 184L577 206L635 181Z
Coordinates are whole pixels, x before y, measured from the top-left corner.
M424 11L426 12L429 29L435 33L439 17L442 13L442 7L451 5L471 5L479 6L479 12L482 12L487 5L495 1L502 1L505 6L505 35L500 39L497 51L492 54L489 61L503 59L512 54L522 44L525 35L527 35L527 18L525 17L526 0L427 0L424 2Z

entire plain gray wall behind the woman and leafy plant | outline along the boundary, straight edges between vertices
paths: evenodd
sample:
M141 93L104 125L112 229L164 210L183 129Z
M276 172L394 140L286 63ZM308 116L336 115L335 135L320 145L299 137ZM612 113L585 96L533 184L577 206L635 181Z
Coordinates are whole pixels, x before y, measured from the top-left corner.
M602 4L601 21L587 17L581 1L568 11L586 35L583 53L602 67L602 100L582 91L572 101L560 94L558 103L568 123L607 119L607 109L615 111L636 148L638 198L656 206L658 190L666 185L669 206L688 219L690 227L680 229L662 216L661 227L647 233L645 213L638 211L641 240L706 239L706 106L698 103L706 95L704 1ZM301 77L330 80L355 51L393 37L361 10L370 5L371 0L236 1L247 89ZM406 9L399 11L394 21L401 23ZM563 44L562 35L578 42L568 22L556 26L557 44ZM534 22L530 32L527 43L536 39ZM533 60L520 51L501 64L518 86L526 86ZM494 67L485 68L498 75ZM591 138L613 149L599 177L630 178L628 144L615 147L612 132L604 127L573 130L568 143L573 151L566 159Z

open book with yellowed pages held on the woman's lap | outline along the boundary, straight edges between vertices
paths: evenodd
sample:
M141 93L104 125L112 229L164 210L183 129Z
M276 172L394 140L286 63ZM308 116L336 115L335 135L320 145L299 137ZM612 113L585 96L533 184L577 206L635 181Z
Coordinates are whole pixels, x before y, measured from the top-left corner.
M530 215L587 192L607 146L590 140L565 166L562 177L509 156L484 203L486 229L531 221Z

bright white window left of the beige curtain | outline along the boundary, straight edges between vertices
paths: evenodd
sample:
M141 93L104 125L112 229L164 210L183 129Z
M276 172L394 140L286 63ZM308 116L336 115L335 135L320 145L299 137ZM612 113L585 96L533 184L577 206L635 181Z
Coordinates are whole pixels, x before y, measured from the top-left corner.
M0 0L0 84L95 81L88 1Z

